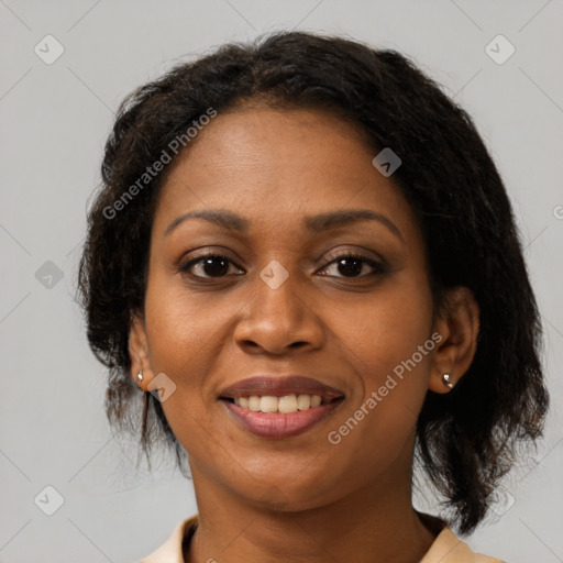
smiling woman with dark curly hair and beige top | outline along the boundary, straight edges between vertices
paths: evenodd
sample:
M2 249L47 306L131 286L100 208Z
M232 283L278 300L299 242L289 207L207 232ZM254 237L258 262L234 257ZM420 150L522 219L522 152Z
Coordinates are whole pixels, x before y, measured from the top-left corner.
M541 435L539 313L438 85L339 37L225 45L122 103L102 179L79 288L108 415L198 506L144 562L499 561L453 528Z

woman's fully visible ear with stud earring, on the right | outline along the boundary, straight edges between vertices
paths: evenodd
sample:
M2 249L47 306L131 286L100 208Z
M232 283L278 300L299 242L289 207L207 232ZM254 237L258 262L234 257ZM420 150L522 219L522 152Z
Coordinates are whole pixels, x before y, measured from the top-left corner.
M455 386L470 368L477 350L479 307L471 289L457 286L448 290L435 330L442 340L433 355L428 388L448 393L451 388L444 384L443 375L449 373Z

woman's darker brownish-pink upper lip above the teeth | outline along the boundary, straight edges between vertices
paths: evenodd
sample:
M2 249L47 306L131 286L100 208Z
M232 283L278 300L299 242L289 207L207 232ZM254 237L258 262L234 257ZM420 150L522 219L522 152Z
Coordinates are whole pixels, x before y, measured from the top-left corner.
M236 382L221 390L221 398L257 396L284 397L285 395L319 395L325 399L343 397L340 389L302 375L256 375Z

